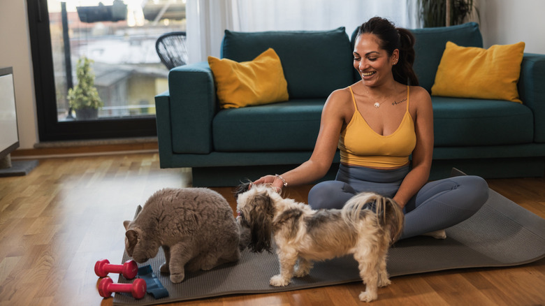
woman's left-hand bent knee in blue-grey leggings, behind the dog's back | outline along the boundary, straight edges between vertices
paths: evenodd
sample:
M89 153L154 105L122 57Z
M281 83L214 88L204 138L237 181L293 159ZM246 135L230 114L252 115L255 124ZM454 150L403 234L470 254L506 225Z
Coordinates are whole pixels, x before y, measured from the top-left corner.
M316 184L308 194L308 204L313 210L341 208L356 191L349 184L340 181L326 181Z

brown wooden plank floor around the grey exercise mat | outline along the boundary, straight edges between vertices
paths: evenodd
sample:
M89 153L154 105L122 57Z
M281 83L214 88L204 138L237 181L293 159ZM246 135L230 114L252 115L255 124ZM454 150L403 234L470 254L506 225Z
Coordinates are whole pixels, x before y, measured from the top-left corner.
M94 263L120 263L122 222L163 187L187 187L187 170L159 169L157 154L44 159L23 177L0 177L0 305L112 305L96 291ZM545 179L488 180L545 218ZM287 195L306 201L310 186ZM217 188L231 204L231 188ZM117 280L117 277L114 279ZM544 305L545 260L393 277L372 305ZM176 305L363 305L360 283Z

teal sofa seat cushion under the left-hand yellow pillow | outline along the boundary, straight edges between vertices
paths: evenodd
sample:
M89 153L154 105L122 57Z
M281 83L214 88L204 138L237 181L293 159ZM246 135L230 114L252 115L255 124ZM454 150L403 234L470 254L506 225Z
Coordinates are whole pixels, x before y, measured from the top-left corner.
M296 99L220 110L212 122L219 152L312 150L326 99Z

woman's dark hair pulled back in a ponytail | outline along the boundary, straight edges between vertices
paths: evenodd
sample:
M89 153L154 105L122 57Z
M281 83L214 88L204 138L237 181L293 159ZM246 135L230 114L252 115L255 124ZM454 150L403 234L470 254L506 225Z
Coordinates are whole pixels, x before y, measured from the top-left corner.
M414 36L407 29L396 28L395 25L384 18L372 17L358 29L358 36L361 34L375 34L381 41L380 48L386 50L388 55L393 50L399 50L398 64L392 68L393 79L409 85L419 85L419 79L412 69L414 63Z

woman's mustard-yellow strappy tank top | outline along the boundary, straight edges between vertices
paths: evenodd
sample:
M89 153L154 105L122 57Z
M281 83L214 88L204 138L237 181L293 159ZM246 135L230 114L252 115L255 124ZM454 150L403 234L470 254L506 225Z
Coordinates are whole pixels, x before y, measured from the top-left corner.
M354 92L354 115L341 132L339 150L342 163L371 168L399 168L409 161L416 146L414 122L409 113L409 86L407 86L407 110L398 129L387 136L375 132L358 111Z

